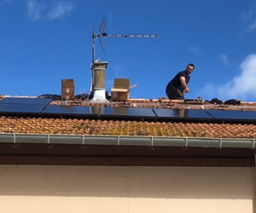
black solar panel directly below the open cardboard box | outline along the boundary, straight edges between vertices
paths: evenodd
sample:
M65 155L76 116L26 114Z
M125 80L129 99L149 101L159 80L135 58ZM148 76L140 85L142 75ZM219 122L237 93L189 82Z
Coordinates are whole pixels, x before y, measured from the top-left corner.
M150 108L133 107L102 107L101 117L112 116L118 118L156 118Z

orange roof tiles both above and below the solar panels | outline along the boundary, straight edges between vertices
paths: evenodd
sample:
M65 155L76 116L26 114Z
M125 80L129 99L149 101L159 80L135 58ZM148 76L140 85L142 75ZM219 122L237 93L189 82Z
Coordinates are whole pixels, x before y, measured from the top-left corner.
M64 101L51 101L50 105L65 105ZM256 103L238 106L209 103L186 104L169 100L130 100L95 103L84 100L68 101L67 106L141 107L229 111L256 111ZM119 118L65 118L9 116L0 117L0 133L53 134L53 135L129 135L202 138L255 138L254 122L217 122L200 120L140 120Z

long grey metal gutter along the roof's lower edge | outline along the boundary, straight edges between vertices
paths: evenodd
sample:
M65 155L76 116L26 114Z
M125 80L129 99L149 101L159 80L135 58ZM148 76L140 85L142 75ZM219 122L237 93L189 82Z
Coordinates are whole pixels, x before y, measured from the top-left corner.
M0 143L111 145L147 147L255 148L255 139L120 135L0 134Z

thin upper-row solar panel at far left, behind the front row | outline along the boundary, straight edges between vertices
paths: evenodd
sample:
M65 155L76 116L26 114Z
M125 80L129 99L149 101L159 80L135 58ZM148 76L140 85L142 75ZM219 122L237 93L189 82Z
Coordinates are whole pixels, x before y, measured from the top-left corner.
M51 99L48 98L4 98L0 104L40 104L47 105Z

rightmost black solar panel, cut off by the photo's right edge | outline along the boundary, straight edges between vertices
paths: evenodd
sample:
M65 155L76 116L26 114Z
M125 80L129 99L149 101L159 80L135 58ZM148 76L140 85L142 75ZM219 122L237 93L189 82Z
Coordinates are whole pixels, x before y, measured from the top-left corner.
M207 110L213 118L221 120L255 120L256 112L250 111L230 111L230 110Z

